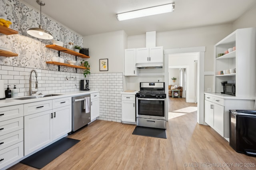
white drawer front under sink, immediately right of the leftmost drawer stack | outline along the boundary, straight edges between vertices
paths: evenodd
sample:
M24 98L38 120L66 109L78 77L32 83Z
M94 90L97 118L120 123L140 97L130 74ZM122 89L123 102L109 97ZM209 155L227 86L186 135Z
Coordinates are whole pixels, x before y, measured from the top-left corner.
M24 104L24 116L52 109L52 100Z

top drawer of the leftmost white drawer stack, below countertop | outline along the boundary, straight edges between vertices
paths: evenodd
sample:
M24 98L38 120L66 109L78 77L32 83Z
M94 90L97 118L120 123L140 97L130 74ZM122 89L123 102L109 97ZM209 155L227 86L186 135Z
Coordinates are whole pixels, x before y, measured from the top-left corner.
M6 121L17 117L22 117L23 115L23 105L1 107L0 121Z

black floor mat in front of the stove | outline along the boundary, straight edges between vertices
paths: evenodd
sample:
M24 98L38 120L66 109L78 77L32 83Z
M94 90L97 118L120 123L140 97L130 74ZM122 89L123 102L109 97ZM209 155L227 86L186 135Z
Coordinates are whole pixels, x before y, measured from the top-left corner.
M136 126L132 134L151 136L156 138L167 138L166 130L162 128L150 128L150 127L139 127Z

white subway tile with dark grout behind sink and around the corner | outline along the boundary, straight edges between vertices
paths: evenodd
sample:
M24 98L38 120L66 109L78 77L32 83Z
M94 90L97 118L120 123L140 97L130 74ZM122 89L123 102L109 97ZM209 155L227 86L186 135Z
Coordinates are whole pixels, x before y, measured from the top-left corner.
M4 79L5 86L14 85L18 89L18 96L28 95L31 68L0 65L0 79ZM91 73L84 77L82 73L67 73L64 71L49 71L35 69L38 72L38 92L42 94L79 91L80 80L89 80L91 91L100 91L100 117L105 121L121 122L121 93L123 91L123 73ZM66 79L68 78L68 80ZM73 77L73 78L72 78ZM32 81L35 81L32 73ZM32 90L35 83L32 82ZM6 89L6 88L5 88Z

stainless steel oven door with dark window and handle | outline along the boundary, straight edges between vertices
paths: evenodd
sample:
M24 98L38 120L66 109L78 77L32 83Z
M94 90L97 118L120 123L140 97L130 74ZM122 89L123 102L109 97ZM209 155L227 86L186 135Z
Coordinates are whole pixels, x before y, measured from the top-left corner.
M166 99L136 97L137 118L166 120Z

